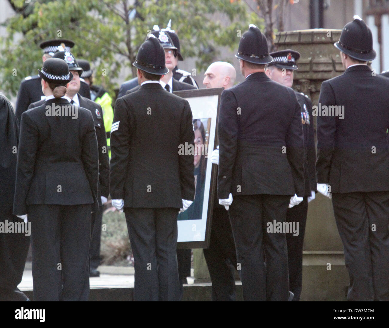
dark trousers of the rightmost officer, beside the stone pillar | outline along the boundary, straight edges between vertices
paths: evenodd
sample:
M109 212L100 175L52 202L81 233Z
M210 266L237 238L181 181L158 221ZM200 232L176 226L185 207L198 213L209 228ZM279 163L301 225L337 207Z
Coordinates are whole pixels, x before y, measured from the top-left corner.
M332 194L349 301L389 301L389 191Z

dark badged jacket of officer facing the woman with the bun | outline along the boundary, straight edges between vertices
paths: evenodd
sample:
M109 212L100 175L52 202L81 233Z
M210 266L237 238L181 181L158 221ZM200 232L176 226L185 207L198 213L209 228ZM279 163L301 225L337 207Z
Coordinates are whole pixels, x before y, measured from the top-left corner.
M80 107L90 110L93 121L95 122L96 138L98 145L98 161L99 161L99 183L98 183L98 203L101 206L101 195L108 197L109 195L109 155L107 147L107 134L105 133L103 110L98 103L82 97L80 94L78 99ZM30 104L28 109L41 106L44 100L36 101Z

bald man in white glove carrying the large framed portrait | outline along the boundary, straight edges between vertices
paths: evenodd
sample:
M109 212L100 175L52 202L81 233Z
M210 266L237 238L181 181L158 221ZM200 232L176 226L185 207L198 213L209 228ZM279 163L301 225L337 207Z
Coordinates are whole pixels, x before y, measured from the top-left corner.
M204 75L203 84L207 89L220 87L228 89L233 86L237 76L235 68L223 61L212 63ZM218 149L212 152L211 162L219 164ZM230 218L224 206L219 205L216 190L214 199L210 245L203 250L212 281L212 301L235 301L237 254Z

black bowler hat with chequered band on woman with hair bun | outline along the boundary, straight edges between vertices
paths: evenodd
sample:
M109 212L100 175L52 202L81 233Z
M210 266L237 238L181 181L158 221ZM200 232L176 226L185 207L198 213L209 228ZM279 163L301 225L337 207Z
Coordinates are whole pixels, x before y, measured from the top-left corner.
M39 76L46 82L66 85L73 80L73 74L69 72L67 63L59 58L46 59L42 70L38 70L38 72Z

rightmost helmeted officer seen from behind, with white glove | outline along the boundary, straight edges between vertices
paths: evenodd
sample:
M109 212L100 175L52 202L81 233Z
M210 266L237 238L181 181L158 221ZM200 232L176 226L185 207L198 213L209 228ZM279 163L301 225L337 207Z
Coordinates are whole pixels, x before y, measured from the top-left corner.
M340 40L345 72L324 81L317 115L317 190L331 198L350 277L349 301L389 300L389 80L359 16ZM342 107L343 106L343 107Z

